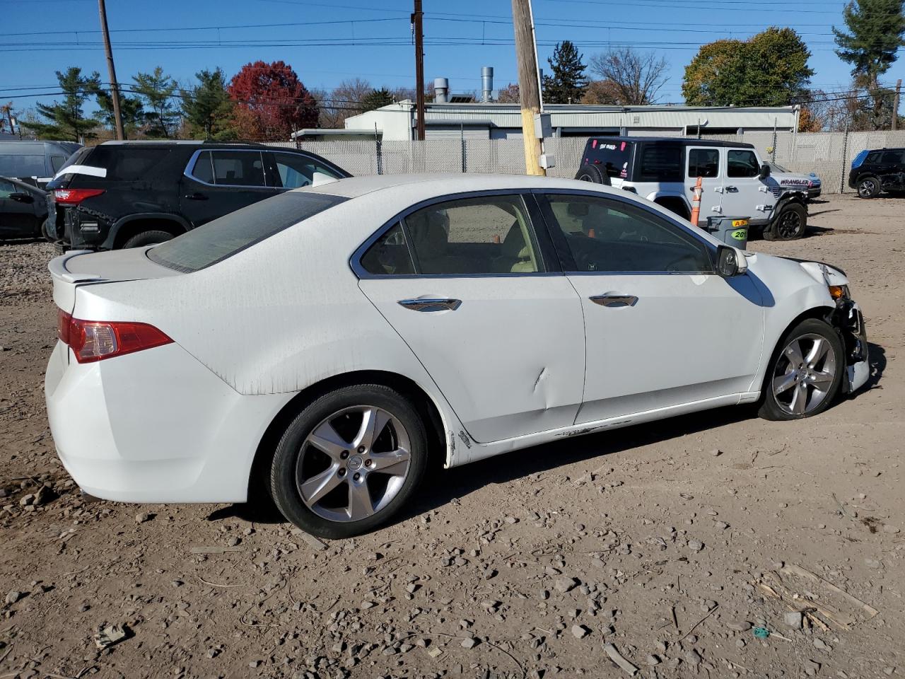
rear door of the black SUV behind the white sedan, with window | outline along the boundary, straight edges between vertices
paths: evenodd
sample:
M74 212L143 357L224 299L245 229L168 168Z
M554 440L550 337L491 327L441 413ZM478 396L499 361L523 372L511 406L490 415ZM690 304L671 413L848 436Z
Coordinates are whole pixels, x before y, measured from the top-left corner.
M225 148L192 154L179 182L179 209L193 226L275 196L260 150Z

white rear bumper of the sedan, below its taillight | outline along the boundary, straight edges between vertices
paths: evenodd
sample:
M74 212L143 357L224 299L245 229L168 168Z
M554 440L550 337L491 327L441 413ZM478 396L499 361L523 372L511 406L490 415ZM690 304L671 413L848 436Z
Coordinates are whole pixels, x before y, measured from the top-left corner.
M44 394L63 466L119 502L244 502L257 446L291 397L242 396L176 344L80 365L62 342Z

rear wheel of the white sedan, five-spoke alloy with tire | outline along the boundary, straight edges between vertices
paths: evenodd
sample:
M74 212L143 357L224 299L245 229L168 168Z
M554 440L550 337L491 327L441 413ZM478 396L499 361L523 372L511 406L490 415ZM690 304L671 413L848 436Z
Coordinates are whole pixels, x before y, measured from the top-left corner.
M424 473L424 426L388 387L343 387L305 408L271 469L273 499L305 531L339 538L387 521Z

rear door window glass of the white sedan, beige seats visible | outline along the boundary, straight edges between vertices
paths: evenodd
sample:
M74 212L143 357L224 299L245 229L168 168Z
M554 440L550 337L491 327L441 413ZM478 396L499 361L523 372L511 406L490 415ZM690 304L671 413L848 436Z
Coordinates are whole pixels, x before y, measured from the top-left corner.
M543 271L520 196L460 198L415 210L371 246L361 265L377 275Z

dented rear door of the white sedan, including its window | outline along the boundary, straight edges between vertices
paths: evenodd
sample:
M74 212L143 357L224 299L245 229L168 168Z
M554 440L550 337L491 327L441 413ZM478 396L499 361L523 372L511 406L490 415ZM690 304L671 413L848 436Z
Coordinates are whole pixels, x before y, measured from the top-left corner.
M518 193L448 196L353 258L361 290L481 443L571 426L581 404L581 301L538 220Z

